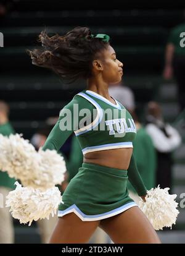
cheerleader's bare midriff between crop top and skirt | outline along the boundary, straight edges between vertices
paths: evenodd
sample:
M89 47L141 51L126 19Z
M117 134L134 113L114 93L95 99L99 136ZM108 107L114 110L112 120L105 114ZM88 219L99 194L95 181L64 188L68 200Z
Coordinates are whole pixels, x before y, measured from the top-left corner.
M115 148L86 153L84 163L94 163L110 168L127 170L130 164L133 148Z

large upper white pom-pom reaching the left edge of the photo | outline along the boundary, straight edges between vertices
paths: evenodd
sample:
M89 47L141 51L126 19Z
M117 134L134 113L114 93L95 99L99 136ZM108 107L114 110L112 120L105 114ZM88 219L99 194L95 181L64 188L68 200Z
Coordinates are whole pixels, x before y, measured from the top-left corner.
M0 135L0 169L23 186L47 189L61 184L66 171L63 156L55 150L39 150L21 135Z

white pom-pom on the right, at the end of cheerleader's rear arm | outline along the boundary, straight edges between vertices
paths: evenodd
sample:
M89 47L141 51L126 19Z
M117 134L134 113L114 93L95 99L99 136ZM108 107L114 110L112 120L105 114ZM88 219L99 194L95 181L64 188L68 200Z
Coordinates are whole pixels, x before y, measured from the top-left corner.
M160 189L158 185L155 189L147 191L146 202L139 202L139 208L149 219L155 230L170 227L176 223L179 211L176 209L178 203L175 202L176 194L170 195L169 188Z

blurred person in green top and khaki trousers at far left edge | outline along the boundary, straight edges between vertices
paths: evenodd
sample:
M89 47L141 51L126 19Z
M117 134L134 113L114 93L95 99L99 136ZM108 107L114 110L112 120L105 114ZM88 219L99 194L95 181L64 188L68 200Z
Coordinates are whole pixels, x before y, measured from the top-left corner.
M0 134L9 136L15 134L14 128L9 122L9 106L0 101ZM14 243L14 224L9 208L5 207L6 196L15 189L15 179L11 179L6 172L0 171L0 194L3 202L0 205L0 244Z

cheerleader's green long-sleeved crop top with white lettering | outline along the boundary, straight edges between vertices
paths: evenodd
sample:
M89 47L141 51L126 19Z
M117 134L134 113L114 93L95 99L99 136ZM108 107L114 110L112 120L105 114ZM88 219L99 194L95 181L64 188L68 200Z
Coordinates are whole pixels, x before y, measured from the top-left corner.
M84 155L92 151L132 148L136 136L133 118L117 100L115 103L90 90L76 94L60 111L59 120L47 137L43 150L59 151L72 132L75 132ZM128 179L138 195L146 195L133 155Z

